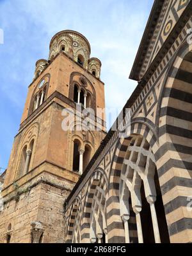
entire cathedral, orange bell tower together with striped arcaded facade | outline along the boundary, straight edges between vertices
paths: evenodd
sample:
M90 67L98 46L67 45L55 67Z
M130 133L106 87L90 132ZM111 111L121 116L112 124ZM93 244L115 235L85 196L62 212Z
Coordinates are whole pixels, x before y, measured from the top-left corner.
M100 60L81 33L52 37L1 176L0 242L192 242L191 32L191 0L154 1L108 133Z

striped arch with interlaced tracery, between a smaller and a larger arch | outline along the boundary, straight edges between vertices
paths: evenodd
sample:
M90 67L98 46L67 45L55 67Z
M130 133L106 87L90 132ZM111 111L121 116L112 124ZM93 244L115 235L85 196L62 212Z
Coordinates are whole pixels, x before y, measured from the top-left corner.
M90 178L86 191L82 219L82 242L107 240L105 215L107 194L108 179L104 171L98 169L94 172L92 178Z

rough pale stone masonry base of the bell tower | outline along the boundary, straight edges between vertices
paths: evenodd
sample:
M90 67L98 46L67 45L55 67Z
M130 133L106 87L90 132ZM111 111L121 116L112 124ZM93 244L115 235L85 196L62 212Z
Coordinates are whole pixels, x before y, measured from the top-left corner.
M31 223L39 222L44 228L42 242L63 242L63 203L69 192L53 185L39 183L4 205L0 214L0 242L31 242ZM11 230L8 230L9 224Z

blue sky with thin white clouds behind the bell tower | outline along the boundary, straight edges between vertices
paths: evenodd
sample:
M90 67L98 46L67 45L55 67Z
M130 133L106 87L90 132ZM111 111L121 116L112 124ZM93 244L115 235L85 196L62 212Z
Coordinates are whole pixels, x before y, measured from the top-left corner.
M129 74L153 3L0 0L0 32L4 32L4 44L0 44L0 167L8 165L35 62L48 58L52 36L61 30L76 30L88 39L91 57L102 62L106 107L120 111L137 85Z

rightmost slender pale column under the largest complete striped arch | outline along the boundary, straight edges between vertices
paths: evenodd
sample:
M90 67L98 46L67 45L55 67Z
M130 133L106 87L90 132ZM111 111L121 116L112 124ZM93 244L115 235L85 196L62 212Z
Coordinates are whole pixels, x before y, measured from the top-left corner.
M159 233L159 225L158 225L158 221L157 221L155 201L156 201L156 196L148 196L147 197L147 202L150 205L150 212L151 212L152 224L153 224L153 228L154 228L155 241L156 241L156 243L161 243L161 238L160 238L160 233Z

